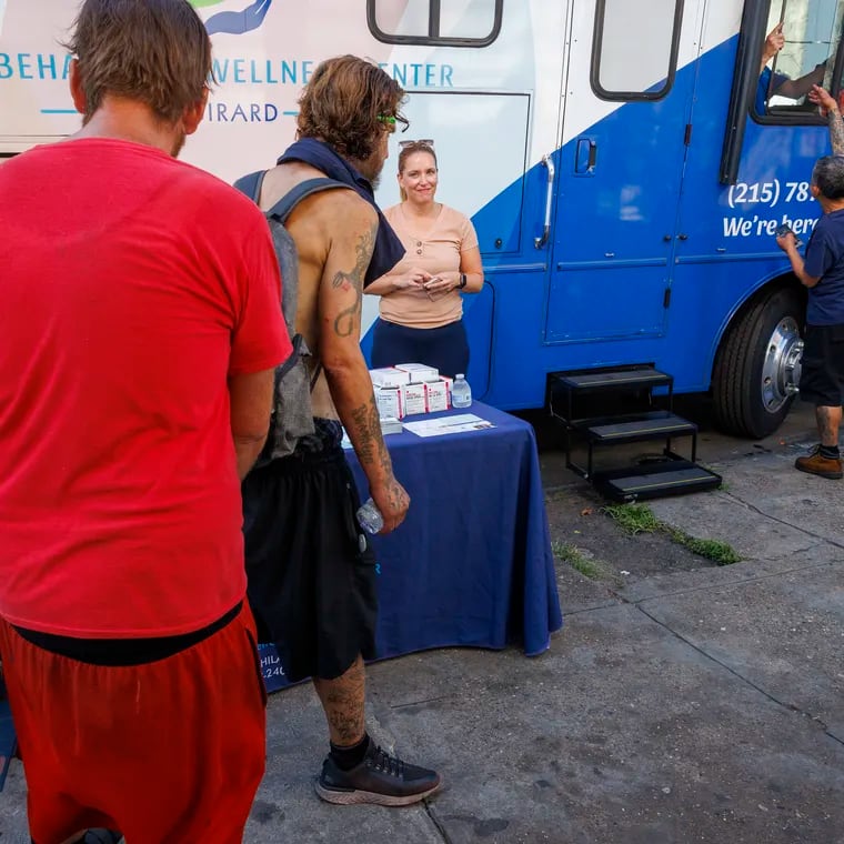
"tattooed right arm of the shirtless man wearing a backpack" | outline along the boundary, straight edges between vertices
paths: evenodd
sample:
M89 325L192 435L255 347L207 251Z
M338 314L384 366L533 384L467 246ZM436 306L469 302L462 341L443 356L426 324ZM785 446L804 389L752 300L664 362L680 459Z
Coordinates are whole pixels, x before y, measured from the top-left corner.
M361 352L363 279L375 245L378 218L370 205L346 192L331 195L331 243L319 295L320 360L338 415L366 474L382 533L398 528L410 499L393 475L372 381Z

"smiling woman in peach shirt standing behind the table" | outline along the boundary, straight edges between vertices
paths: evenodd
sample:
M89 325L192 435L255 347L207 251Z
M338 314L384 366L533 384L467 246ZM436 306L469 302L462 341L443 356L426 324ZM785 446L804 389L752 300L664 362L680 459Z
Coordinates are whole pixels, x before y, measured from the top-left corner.
M432 141L405 141L399 153L402 202L384 215L406 250L366 293L381 297L372 365L426 363L444 375L465 374L469 343L462 293L483 287L478 235L468 217L436 202Z

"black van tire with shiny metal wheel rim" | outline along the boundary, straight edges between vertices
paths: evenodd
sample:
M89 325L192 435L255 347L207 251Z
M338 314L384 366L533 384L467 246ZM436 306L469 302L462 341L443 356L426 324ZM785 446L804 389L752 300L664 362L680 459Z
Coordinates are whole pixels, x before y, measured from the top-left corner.
M775 288L753 301L727 330L712 373L715 423L760 440L776 431L800 382L804 298Z

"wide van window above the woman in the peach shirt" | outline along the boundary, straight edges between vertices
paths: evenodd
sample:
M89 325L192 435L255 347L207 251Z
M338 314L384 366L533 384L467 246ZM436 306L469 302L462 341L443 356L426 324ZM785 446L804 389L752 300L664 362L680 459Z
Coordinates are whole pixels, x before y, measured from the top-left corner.
M523 0L515 0L521 3ZM501 32L504 0L366 0L370 32L386 44L488 47Z

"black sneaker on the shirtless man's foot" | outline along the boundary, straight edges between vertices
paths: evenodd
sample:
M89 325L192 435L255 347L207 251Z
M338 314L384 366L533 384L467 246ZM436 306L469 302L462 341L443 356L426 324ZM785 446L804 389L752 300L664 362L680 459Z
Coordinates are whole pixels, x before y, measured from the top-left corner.
M322 800L344 806L352 803L408 806L439 787L440 774L435 771L409 765L382 751L373 741L363 762L351 771L341 771L328 756L316 780L316 794Z

